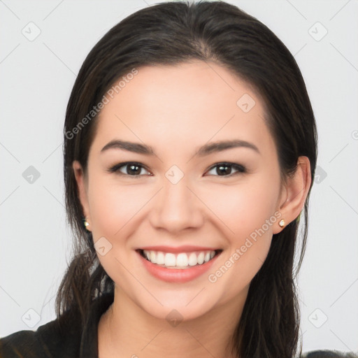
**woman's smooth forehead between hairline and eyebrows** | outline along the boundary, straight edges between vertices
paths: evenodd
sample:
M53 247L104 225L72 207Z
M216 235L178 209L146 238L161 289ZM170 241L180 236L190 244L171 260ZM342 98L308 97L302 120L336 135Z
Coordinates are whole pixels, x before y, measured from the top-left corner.
M181 152L223 139L240 138L263 149L273 145L262 99L222 66L199 61L144 66L130 78L106 94L94 147L113 138Z

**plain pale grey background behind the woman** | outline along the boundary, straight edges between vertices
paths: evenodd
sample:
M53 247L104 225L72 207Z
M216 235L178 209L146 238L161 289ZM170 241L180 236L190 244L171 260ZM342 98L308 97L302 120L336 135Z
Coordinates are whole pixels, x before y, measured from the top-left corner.
M62 179L71 87L103 34L156 2L0 1L0 336L55 318L71 253ZM317 120L318 168L299 276L303 351L357 351L358 3L228 2L287 45Z

